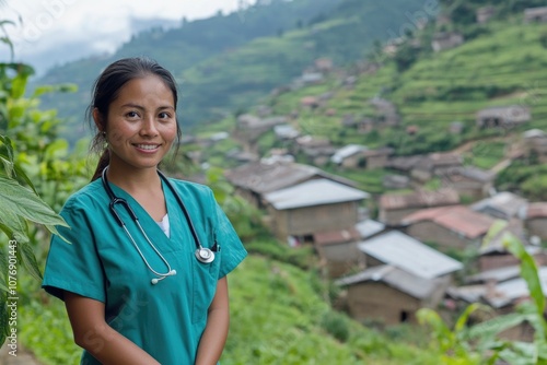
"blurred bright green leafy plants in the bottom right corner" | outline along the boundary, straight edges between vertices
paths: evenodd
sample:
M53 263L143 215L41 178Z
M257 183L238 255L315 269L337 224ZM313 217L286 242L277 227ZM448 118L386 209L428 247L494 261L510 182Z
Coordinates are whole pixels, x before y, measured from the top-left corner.
M497 235L505 224L498 222L492 225L485 239ZM511 234L504 234L503 245L521 261L521 276L526 281L531 302L521 304L515 313L502 316L492 316L492 309L486 305L472 304L453 327L446 325L434 310L420 309L418 319L431 329L431 337L443 353L443 364L494 364L499 360L508 364L547 363L545 294L536 262ZM501 335L504 330L521 325L534 328L532 342L511 341Z

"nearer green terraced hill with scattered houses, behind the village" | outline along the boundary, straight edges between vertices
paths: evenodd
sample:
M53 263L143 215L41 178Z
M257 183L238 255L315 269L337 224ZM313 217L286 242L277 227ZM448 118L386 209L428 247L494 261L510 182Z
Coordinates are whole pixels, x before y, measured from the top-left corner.
M455 2L453 3L455 4ZM513 7L494 4L492 17L480 24L476 11L494 1L459 1L443 7L438 20L400 39L375 45L369 55L372 68L335 70L314 84L272 95L263 104L272 115L290 116L292 126L303 134L328 139L335 148L361 144L369 149L392 148L397 156L457 151L465 164L491 169L512 152L524 151L523 133L529 129L547 131L547 23L526 22L524 9L537 2ZM473 20L473 22L472 22ZM434 51L432 40L450 32L463 35L463 43ZM384 48L383 46L388 46ZM316 107L304 99L317 99ZM388 125L385 114L372 103L385 101L394 106L398 123ZM484 108L515 105L528 108L531 120L504 128L480 128L477 113ZM258 115L258 108L249 113ZM348 122L349 121L349 122ZM368 122L368 126L364 123ZM231 125L230 125L231 123ZM360 125L365 131L358 130ZM458 125L459 131L452 126ZM234 118L202 128L230 131ZM264 133L256 143L259 154L290 142ZM234 145L225 144L225 151ZM206 151L203 161L229 166L222 146ZM296 156L299 162L313 158ZM307 160L306 160L307 158ZM373 193L385 192L385 175L393 170L344 170L328 165L333 173L361 182ZM547 168L534 158L514 160L496 181L496 187L523 195L532 201L547 199Z

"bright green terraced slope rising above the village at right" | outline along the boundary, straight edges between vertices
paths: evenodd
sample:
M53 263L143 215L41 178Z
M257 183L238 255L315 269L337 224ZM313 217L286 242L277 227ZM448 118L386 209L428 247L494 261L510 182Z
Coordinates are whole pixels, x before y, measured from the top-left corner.
M505 8L501 10L505 11ZM299 117L293 123L302 133L328 138L337 146L349 143L364 144L370 149L391 146L397 155L411 155L450 151L468 142L472 146L464 153L465 161L477 167L491 168L503 157L509 141L517 141L523 131L532 128L547 130L547 104L543 103L547 95L544 71L547 24L525 23L521 12L512 12L480 26L457 23L451 26L467 30L475 36L456 48L433 52L431 37L440 32L440 27L431 22L407 39L396 55L371 54L371 62L382 60L375 73L349 70L348 74L357 78L352 89L333 75L322 83L269 97L263 103L271 106L276 115L298 111ZM419 40L421 46L412 50L414 60L400 70L398 61L405 57L406 47L412 39ZM331 93L331 97L321 107L301 107L302 97L325 93ZM377 110L370 104L376 96L394 103L400 115L399 126L383 127L379 123L371 132L357 133L342 125L346 116L356 120L377 118ZM479 129L476 126L478 110L505 105L529 107L532 120L510 129ZM454 121L464 125L461 134L449 132ZM408 133L406 129L410 126L417 132ZM258 145L265 153L270 148L283 146L283 143L267 133ZM498 187L502 190L511 188L532 200L547 199L546 181L537 175L547 175L545 166L521 165L516 162L509 168L509 174L501 174ZM382 177L393 174L387 170L368 170L366 174L363 170L333 172L361 181L364 190L375 193L384 191Z

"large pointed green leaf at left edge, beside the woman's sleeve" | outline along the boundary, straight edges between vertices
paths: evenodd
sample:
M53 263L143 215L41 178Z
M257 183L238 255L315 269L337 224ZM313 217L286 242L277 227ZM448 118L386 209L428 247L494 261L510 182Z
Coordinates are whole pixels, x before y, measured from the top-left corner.
M31 222L68 226L37 195L12 179L0 177L0 207Z

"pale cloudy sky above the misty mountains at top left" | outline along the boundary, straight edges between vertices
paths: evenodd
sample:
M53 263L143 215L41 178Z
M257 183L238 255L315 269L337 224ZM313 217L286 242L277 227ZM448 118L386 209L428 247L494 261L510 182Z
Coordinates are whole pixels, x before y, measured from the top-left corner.
M55 64L110 54L151 26L176 26L183 17L203 19L248 7L253 0L4 0L0 20L15 45L15 60L38 73ZM21 21L20 21L21 20ZM1 35L1 34L0 34ZM9 49L0 45L0 59Z

